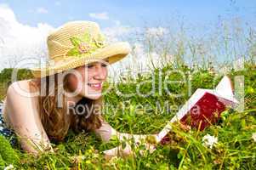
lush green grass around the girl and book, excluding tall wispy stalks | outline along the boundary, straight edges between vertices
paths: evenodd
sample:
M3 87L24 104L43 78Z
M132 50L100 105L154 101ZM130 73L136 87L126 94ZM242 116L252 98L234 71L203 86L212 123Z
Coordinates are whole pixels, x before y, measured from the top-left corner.
M175 125L174 141L164 146L158 145L152 154L147 152L145 156L140 156L139 150L134 149L135 156L115 157L106 161L102 151L117 146L120 144L118 141L102 144L94 133L75 134L70 131L65 143L53 144L54 154L46 152L39 158L24 153L18 146L11 148L1 138L0 168L13 164L17 169L255 169L256 141L252 139L252 134L256 133L255 68L255 63L247 61L244 70L228 72L233 80L236 76L244 76L244 111L228 109L222 114L219 122L202 132L196 129L185 131ZM163 87L159 88L158 84L163 82L165 77L168 80L182 80L183 77L178 72L167 75L167 71L178 70L185 73L186 80L192 73L193 76L191 88L188 82L168 85L172 94L184 93L175 97L167 94ZM152 75L158 75L159 71L162 71L162 77L153 79ZM151 82L154 81L156 93L148 97L138 94L123 97L118 95L117 88L111 88L105 94L105 104L108 104L108 107L103 114L111 126L125 133L157 133L174 116L177 111L174 106L183 105L189 99L190 90L192 94L196 88L214 88L222 77L217 72L207 69L194 71L186 65L179 65L179 68L166 65L162 69L153 70L152 75L138 75L135 79L126 77L126 82L114 84L119 92L129 94L136 92L136 84L148 81L139 88L142 94L146 94L151 91ZM105 88L110 86L113 84L105 84ZM167 104L168 108L164 108ZM202 143L202 137L206 134L218 137L218 144L212 149ZM143 146L140 149L143 150Z

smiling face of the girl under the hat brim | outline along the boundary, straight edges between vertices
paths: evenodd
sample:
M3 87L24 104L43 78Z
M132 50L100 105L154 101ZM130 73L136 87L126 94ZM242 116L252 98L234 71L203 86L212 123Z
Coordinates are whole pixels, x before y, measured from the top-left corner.
M107 62L108 60L105 60ZM80 97L99 99L102 93L102 85L108 76L105 62L94 62L75 68L80 76L71 74L68 82L72 91L78 90Z

